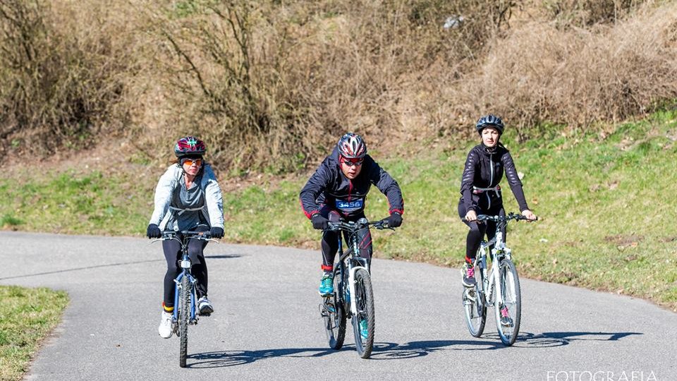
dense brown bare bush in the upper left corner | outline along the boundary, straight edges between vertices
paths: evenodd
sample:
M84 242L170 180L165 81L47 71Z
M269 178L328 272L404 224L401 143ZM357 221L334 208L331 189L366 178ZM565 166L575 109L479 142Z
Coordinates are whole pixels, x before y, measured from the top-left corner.
M90 147L128 120L118 107L128 61L90 11L78 18L47 1L0 0L0 140L16 150Z

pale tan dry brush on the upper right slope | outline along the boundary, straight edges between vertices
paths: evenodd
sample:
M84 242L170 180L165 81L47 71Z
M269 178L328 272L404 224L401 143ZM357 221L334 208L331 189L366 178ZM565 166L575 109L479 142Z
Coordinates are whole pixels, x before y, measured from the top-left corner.
M671 4L594 30L523 25L450 97L461 114L501 114L521 138L545 121L590 126L652 111L677 97L676 20Z

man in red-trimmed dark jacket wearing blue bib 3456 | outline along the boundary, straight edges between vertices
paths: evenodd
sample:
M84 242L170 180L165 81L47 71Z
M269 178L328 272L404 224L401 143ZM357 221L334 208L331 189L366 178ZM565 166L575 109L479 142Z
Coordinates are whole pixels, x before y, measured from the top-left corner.
M322 281L319 294L334 292L331 270L338 250L338 232L327 230L328 222L357 221L365 217L365 199L374 184L388 198L389 226L402 224L404 200L397 181L367 155L367 145L360 135L346 133L334 152L327 156L300 193L300 202L312 227L322 229ZM371 261L372 236L369 228L358 231L360 256Z

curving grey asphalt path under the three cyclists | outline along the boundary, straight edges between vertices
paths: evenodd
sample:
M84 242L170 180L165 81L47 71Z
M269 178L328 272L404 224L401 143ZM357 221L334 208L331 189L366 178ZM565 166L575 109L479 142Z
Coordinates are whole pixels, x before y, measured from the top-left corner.
M458 270L374 260L376 344L364 360L350 329L343 349L327 347L319 252L210 243L206 253L216 312L190 326L179 368L178 339L157 334L159 243L0 232L0 284L71 296L27 380L677 379L677 314L640 299L521 279L520 336L504 347L493 320L480 339L465 328Z

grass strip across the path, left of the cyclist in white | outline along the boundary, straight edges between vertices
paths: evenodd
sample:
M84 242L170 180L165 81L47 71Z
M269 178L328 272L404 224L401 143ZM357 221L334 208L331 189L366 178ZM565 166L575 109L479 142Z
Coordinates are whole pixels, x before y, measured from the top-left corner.
M0 180L0 226L72 234L145 231L154 184L142 179L100 171L19 169L14 178Z

